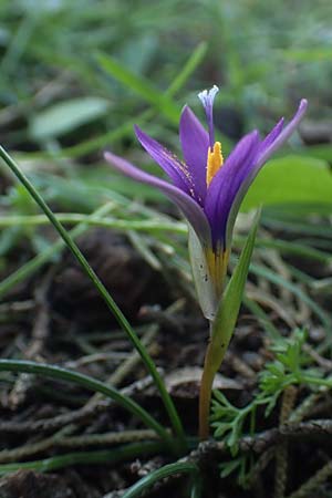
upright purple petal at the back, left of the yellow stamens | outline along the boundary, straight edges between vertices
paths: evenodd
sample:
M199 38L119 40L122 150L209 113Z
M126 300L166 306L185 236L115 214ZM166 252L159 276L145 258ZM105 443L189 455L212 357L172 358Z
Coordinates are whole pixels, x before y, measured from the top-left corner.
M209 136L193 111L186 105L179 122L179 138L186 164L195 185L195 193L200 204L206 196L206 165Z

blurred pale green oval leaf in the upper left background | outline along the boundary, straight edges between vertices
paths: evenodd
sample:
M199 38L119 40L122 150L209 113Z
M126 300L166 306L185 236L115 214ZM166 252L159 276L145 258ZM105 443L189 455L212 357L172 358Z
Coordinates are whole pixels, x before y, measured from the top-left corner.
M30 122L33 139L44 141L62 136L79 126L104 116L110 102L101 97L72 98L60 102L37 114Z

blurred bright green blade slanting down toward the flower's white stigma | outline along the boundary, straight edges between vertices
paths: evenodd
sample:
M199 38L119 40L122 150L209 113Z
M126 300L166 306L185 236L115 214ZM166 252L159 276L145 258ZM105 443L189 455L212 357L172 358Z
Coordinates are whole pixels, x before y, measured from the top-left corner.
M162 111L170 122L178 123L179 108L177 105L165 93L158 91L148 80L133 73L110 55L98 53L96 59L107 74L138 93L146 102Z

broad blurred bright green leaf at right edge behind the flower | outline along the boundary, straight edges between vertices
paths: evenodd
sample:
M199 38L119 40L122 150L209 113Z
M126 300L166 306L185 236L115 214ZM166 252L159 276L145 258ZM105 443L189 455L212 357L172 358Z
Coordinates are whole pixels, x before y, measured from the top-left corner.
M241 211L260 205L298 203L332 208L332 174L324 160L295 155L271 160L251 185Z

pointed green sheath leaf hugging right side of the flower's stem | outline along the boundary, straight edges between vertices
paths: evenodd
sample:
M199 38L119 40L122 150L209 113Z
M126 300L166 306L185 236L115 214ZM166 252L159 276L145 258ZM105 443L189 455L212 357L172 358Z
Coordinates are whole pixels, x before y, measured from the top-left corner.
M239 262L225 289L224 295L218 304L216 319L211 326L211 367L217 372L227 351L230 338L234 333L238 319L249 264L255 246L260 211L258 211L250 229Z

